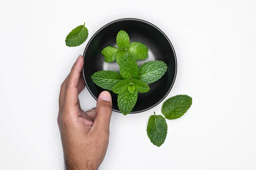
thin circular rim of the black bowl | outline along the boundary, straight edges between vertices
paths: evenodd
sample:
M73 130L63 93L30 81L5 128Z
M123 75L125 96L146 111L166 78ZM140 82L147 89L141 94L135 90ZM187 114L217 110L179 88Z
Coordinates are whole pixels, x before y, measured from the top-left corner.
M119 21L124 21L124 20L140 21L140 22L143 22L143 23L147 23L148 25L153 26L154 28L156 28L158 31L160 31L160 33L163 34L163 36L166 38L166 40L168 40L169 44L170 44L171 47L172 47L172 51L173 51L173 53L174 53L174 58L175 58L175 67L176 67L176 68L175 68L175 76L174 76L174 80L173 80L173 82L172 82L172 85L171 85L170 88L169 88L169 91L163 96L162 99L160 99L156 104L152 105L151 107L146 108L146 109L141 110L141 111L131 111L129 114L131 114L131 113L141 113L141 112L144 112L144 111L148 111L148 110L151 109L151 108L154 108L154 107L157 106L160 102L162 102L163 99L165 99L165 98L168 96L168 94L170 93L170 91L172 90L172 87L173 87L173 85L174 85L174 83L175 83L175 80L176 80L176 75L177 75L177 57L176 57L176 53L175 53L175 50L174 50L174 48L173 48L172 42L169 40L169 38L166 36L166 34L165 34L160 28L158 28L157 26L155 26L155 25L152 24L152 23L149 23L148 21L141 20L141 19L137 19L137 18L122 18L122 19L114 20L114 21L112 21L112 22L106 24L105 26L102 26L102 28L100 28L95 34L93 34L93 36L92 36L92 37L90 38L90 40L87 42L87 45L86 45L86 47L85 47L85 49L84 49L83 58L84 58L84 56L85 56L85 52L86 52L86 50L87 50L87 48L88 48L88 45L89 45L90 42L93 40L93 38L99 33L99 31L101 31L102 29L104 29L105 27L107 27L107 26L109 26L109 25L111 25L111 24L113 24L113 23L117 23L117 22L119 22ZM88 85L87 85L87 82L86 82L86 79L85 79L85 75L84 75L84 67L82 68L82 74L83 74L83 78L84 78L84 82L85 82L86 88L88 89L88 91L90 92L90 94L93 96L93 98L97 101L96 96L94 96L94 94L90 91L90 88L89 88ZM113 109L113 108L112 108L112 111L121 113L120 111L118 111L118 110L116 110L116 109Z

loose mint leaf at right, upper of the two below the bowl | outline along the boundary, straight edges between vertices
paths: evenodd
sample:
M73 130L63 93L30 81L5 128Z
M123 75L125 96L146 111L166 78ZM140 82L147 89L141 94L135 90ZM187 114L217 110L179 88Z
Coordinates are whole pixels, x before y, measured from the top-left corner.
M177 95L167 99L162 106L162 113L166 119L177 119L186 113L192 105L192 98L188 95Z

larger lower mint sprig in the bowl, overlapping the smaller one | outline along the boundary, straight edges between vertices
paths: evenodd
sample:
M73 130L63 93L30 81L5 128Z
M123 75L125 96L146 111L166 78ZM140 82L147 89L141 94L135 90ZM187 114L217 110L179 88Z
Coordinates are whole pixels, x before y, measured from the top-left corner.
M114 71L98 71L92 75L92 79L93 82L101 88L112 90L114 93L118 94L118 108L121 113L127 115L134 108L138 93L146 93L150 90L146 82L152 83L154 80L160 79L166 71L166 68L160 69L160 71L157 69L153 69L153 71L149 69L156 68L156 65L163 65L165 64L164 62L154 61L149 63L149 65L145 63L144 65L146 65L146 67L142 65L143 69L139 69L133 54L125 53L124 57L119 62L120 74ZM163 66L166 66L166 64ZM140 74L140 70L143 74ZM149 77L148 74L154 74L154 78L146 79L145 76ZM143 79L140 79L141 77Z

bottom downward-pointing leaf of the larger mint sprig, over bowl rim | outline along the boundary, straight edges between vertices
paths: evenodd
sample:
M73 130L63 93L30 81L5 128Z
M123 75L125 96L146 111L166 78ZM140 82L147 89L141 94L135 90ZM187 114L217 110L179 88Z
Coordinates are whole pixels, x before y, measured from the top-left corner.
M134 93L126 92L124 94L118 94L117 103L118 108L123 115L127 115L134 108L138 98L138 93L134 91Z

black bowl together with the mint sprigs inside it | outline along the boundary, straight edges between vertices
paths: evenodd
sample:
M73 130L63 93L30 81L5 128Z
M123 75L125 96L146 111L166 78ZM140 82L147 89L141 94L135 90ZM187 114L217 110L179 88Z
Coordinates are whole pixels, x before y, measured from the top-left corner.
M121 19L103 26L84 50L83 75L90 94L97 99L104 89L109 90L113 111L123 114L146 111L160 103L171 90L176 72L171 42L143 20ZM103 78L106 82L100 84ZM122 108L128 99L127 105L134 107Z

